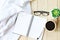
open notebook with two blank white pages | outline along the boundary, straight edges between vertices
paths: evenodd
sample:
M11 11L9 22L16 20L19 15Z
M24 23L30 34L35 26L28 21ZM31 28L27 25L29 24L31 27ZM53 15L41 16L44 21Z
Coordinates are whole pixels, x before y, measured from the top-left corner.
M20 35L27 36L31 18L32 18L32 15L19 14L17 22L15 24L15 29L13 32ZM42 17L34 16L28 37L37 39L40 36L43 29L45 28L46 22L47 22L46 17L42 18Z

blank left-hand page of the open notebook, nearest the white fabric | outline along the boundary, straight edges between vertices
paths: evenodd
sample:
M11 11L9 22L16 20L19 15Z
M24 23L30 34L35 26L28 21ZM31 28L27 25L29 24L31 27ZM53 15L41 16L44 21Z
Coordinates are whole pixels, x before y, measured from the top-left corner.
M15 24L14 33L26 36L32 15L21 13Z

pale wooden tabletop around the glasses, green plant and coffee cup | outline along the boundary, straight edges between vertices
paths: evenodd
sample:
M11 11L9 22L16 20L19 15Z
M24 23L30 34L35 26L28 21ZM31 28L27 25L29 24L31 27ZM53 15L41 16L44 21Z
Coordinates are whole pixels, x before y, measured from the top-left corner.
M55 8L60 9L60 0L32 0L31 2L32 11L48 11L51 12L51 10ZM53 19L50 15L48 16L48 20L56 20ZM57 21L58 26L56 26L56 29L53 31L48 31L45 29L43 40L60 40L60 17Z

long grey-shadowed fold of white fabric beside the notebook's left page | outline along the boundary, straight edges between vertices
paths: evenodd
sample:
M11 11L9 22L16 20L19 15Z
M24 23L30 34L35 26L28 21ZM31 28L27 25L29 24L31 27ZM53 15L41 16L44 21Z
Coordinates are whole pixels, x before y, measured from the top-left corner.
M7 31L9 30L9 29L11 29L12 28L12 26L14 26L14 24L15 24L15 20L16 20L16 17L17 17L17 15L15 14L14 16L12 16L11 18L9 18L9 19L7 19L6 20L6 22L3 22L3 26L1 26L1 28L0 28L0 37L2 37L4 34L6 34L7 33ZM5 25L4 25L5 24Z

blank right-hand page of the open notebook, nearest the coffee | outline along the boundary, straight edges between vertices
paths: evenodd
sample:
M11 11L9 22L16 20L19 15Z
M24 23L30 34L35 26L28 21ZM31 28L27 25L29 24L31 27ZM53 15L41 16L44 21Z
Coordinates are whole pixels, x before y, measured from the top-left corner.
M43 29L45 28L46 22L46 18L35 16L29 33L29 37L37 39L40 36Z

